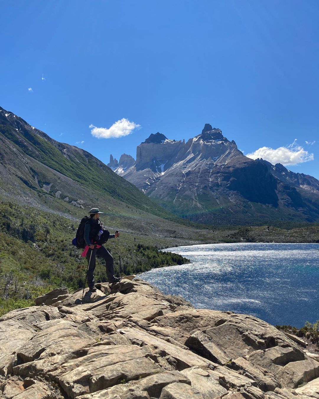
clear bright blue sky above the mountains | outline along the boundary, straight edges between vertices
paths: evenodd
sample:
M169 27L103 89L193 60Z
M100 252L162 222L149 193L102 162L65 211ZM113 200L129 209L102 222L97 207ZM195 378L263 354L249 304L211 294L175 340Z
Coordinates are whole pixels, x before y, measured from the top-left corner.
M0 105L56 140L108 163L135 158L151 133L187 140L211 123L244 154L266 147L319 178L317 0L9 0L1 10ZM122 119L126 136L91 134L118 134L107 129Z

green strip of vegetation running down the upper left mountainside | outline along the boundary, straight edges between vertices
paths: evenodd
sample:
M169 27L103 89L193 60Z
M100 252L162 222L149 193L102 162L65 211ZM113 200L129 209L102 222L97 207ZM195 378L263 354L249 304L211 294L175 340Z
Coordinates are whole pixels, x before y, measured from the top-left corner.
M13 126L1 124L0 133L15 146L18 146L24 154L71 178L88 190L94 187L99 196L108 195L163 219L184 225L194 225L189 220L182 219L163 209L134 184L118 176L89 152L56 142L45 133L40 135L40 132L35 133L25 127L17 132ZM65 152L65 149L67 149L67 152ZM39 167L36 164L35 166L36 169ZM46 182L45 176L37 176L38 172L33 168L31 168L31 171L37 177L39 184ZM37 190L37 188L30 186L28 180L22 179L22 182L33 190ZM49 195L53 196L50 193Z

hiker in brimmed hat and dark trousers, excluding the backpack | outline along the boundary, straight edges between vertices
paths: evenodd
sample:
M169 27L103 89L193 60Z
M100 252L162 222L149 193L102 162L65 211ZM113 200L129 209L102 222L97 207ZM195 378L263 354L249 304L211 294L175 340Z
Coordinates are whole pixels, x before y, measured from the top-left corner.
M95 241L97 241L98 237L98 232L102 229L103 223L100 222L100 214L104 212L100 212L98 208L92 208L89 211L89 215L91 216L91 219L89 219L85 223L84 227L84 241L87 245L89 245L90 250L87 252L87 261L89 265L90 257L91 257L91 262L89 265L89 269L87 271L87 282L89 286L89 290L91 292L95 292L96 288L94 286L95 281L94 281L94 270L95 270L95 257L96 255L105 261L106 265L106 275L108 282L118 282L120 281L119 277L114 276L114 264L113 264L113 257L112 255L108 252L107 249L103 247L103 245L97 245L95 244ZM108 232L107 232L108 233ZM108 238L116 238L119 237L120 233L118 231L115 234L110 234ZM92 256L91 256L92 252Z

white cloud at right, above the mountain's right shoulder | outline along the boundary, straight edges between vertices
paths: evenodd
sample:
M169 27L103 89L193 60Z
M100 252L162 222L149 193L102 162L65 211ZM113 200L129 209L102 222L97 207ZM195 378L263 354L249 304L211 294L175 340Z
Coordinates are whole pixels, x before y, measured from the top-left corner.
M297 139L286 147L270 148L261 147L258 150L246 155L248 158L262 158L270 163L282 165L297 165L302 162L313 161L313 154L309 154L303 147L297 144Z

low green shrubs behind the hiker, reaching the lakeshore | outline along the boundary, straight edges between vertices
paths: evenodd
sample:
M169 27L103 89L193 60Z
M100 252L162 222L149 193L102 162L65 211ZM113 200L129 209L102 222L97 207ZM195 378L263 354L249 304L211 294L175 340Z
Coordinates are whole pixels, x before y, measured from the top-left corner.
M4 300L1 312L32 306L32 299L58 286L71 291L83 287L87 261L71 243L78 223L53 213L0 203L0 289ZM187 259L159 247L136 242L121 233L120 254L124 275L141 273L154 267L182 265ZM118 246L115 239L106 243L119 275ZM96 282L105 282L104 261L97 259Z

